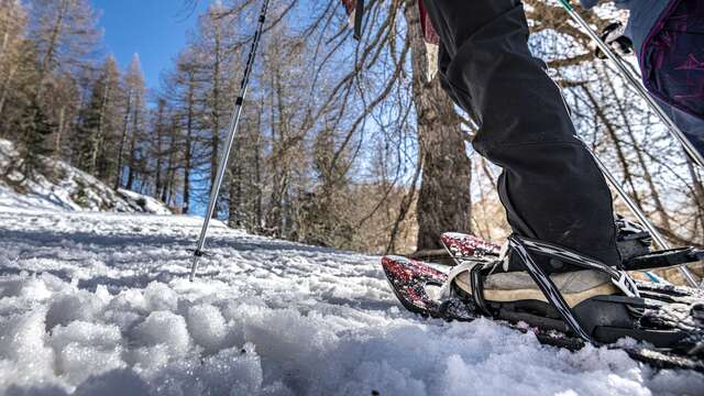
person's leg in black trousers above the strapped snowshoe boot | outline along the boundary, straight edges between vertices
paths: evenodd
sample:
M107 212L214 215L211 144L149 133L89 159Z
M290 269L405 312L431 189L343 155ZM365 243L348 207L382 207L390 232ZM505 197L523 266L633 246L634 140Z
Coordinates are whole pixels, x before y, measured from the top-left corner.
M476 151L504 168L498 190L514 231L617 264L610 193L528 50L520 1L424 4L442 42L443 86L481 123Z

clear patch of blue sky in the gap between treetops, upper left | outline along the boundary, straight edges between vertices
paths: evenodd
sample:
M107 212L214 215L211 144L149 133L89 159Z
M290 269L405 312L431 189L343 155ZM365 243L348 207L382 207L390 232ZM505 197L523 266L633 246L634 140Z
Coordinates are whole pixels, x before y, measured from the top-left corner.
M197 23L210 0L199 0L189 12L186 0L91 0L101 12L103 44L121 68L127 68L132 54L139 53L146 85L157 88L160 74L172 65L174 56L184 47L187 32Z

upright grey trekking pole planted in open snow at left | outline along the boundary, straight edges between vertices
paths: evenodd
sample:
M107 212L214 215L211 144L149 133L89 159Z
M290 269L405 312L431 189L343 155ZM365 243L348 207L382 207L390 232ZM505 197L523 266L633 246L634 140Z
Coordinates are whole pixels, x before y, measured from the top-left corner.
M260 45L260 40L262 38L262 33L264 31L264 21L266 20L266 12L268 11L268 2L270 0L264 0L264 4L262 4L262 11L260 13L258 24L256 31L254 32L254 37L252 38L252 46L250 47L250 54L246 58L246 64L244 66L244 75L242 77L242 82L240 84L240 95L237 97L234 101L234 107L232 109L232 118L230 119L230 127L228 133L228 140L226 145L222 147L222 153L220 154L220 165L218 166L218 174L216 176L215 183L212 184L212 188L210 189L210 198L208 200L208 210L206 210L206 218L202 222L202 228L200 230L200 237L198 237L198 244L196 250L194 251L194 261L190 268L189 280L193 282L196 276L196 268L198 267L198 258L204 255L204 248L206 245L206 238L208 234L208 228L210 227L210 219L216 210L216 205L218 202L218 195L220 194L220 186L222 186L222 179L224 178L224 172L228 166L228 160L230 158L230 151L232 150L232 143L234 142L234 136L238 133L238 127L240 125L240 118L242 116L242 105L244 103L244 98L246 97L246 88L250 84L250 75L252 74L252 69L254 68L254 61L256 58L256 50ZM213 131L217 133L217 131Z

